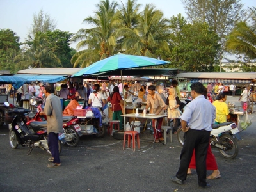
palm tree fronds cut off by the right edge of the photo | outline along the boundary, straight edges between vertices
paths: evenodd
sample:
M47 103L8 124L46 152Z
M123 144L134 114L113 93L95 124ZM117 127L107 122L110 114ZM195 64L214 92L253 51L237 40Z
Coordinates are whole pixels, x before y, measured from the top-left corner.
M251 60L256 59L256 8L250 8L252 24L239 22L228 35L226 49L235 54L244 54Z

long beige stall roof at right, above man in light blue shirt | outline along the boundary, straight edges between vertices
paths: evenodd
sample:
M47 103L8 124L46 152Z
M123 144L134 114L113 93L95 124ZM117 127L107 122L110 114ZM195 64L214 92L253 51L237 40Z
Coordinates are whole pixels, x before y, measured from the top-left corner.
M177 74L177 78L188 79L256 79L255 72L187 72Z

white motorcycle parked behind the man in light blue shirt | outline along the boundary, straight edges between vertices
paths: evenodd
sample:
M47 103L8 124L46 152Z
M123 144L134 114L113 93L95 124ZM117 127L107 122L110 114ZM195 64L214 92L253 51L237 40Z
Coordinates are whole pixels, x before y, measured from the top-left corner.
M210 145L217 147L220 150L221 156L227 159L234 159L238 154L238 144L233 137L238 133L237 125L234 122L225 122L222 124L214 124L210 136ZM177 131L177 138L181 145L184 143L185 132L179 128Z

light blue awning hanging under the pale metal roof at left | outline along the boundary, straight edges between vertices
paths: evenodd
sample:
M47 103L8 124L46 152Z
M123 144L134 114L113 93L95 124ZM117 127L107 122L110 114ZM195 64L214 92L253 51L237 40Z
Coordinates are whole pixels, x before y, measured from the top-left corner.
M45 83L56 83L59 81L63 81L64 79L67 79L67 75L47 75L47 74L15 74L16 77L22 77L24 79L27 79L28 81L42 81Z

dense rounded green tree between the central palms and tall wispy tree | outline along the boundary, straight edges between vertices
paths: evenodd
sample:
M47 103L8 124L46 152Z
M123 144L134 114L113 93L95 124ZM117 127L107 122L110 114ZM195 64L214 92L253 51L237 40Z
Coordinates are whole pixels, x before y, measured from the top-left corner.
M218 61L218 36L205 22L186 24L181 15L171 18L171 64L186 71L212 71Z

